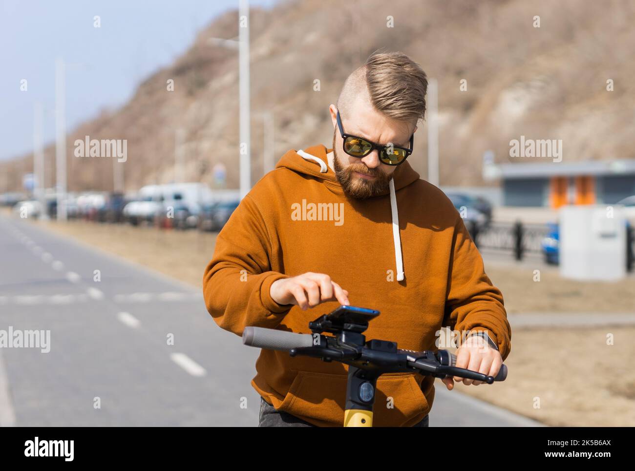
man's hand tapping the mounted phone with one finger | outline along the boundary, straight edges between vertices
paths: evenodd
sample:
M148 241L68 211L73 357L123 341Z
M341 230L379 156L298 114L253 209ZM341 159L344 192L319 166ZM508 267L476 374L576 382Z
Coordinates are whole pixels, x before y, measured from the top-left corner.
M308 272L276 280L271 284L269 296L278 304L297 304L302 310L326 301L349 305L349 292L323 273Z

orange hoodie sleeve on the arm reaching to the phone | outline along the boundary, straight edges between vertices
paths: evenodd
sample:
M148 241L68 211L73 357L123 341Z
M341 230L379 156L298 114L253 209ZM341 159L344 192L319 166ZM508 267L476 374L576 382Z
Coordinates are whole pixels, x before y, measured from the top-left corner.
M271 269L267 225L250 196L243 198L218 234L203 275L208 312L221 328L243 335L246 326L276 328L291 305L269 296L271 284L288 275Z

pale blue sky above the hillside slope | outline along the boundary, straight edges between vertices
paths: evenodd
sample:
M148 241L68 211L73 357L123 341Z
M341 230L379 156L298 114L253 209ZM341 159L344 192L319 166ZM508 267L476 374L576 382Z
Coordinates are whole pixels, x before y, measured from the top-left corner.
M275 0L251 0L271 7ZM55 58L66 71L66 125L116 109L152 72L238 0L0 0L0 160L33 149L34 103L44 144L55 138ZM93 26L98 15L101 27ZM27 91L20 90L22 79Z

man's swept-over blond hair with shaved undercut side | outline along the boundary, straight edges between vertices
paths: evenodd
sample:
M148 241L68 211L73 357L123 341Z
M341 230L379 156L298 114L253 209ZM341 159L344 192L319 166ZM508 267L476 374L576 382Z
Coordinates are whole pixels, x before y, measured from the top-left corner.
M375 52L347 77L337 109L345 116L359 95L365 95L378 112L416 125L425 119L427 88L424 70L410 57L401 52Z

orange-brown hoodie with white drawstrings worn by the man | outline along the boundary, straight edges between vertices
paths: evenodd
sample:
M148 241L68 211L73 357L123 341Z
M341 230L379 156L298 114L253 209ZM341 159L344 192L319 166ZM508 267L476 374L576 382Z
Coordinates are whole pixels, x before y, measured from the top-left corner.
M436 350L442 326L483 330L505 359L511 329L502 294L450 199L408 162L396 168L384 194L350 199L328 167L331 150L286 152L218 234L203 277L217 324L237 335L246 326L311 333L309 321L338 303L303 311L274 302L269 288L283 277L324 273L349 291L351 305L381 312L367 340ZM314 425L343 425L347 366L261 350L256 370L251 385L276 409ZM422 420L432 407L433 383L418 374L380 376L373 425L410 427Z

